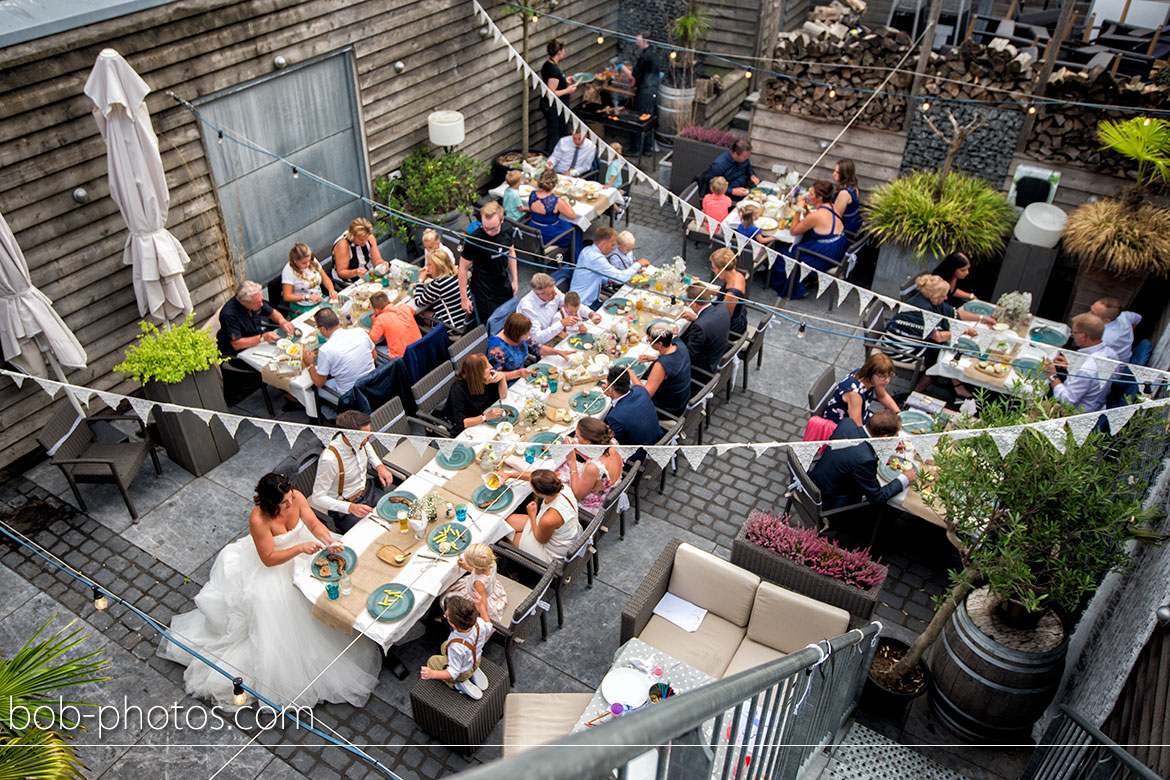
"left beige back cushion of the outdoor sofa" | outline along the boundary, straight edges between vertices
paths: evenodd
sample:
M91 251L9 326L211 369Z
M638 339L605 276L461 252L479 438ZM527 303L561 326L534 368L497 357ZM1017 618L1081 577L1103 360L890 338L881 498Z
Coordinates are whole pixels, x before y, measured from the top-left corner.
M758 587L759 578L751 572L683 543L674 553L667 589L743 628Z

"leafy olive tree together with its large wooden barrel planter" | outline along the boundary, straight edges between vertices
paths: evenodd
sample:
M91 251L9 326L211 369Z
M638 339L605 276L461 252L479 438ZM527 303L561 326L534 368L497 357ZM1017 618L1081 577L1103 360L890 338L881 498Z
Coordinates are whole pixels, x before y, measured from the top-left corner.
M958 424L1002 428L1073 412L1037 382L1028 398L986 401L978 420ZM927 502L943 515L962 567L904 656L870 676L896 686L932 647L931 705L943 723L969 739L1026 736L1060 683L1069 615L1107 572L1128 565L1128 541L1158 540L1140 475L1150 457L1143 444L1164 426L1164 413L1138 412L1112 437L1090 433L1078 444L1066 430L1059 448L1024 428L1007 454L989 434L940 442Z

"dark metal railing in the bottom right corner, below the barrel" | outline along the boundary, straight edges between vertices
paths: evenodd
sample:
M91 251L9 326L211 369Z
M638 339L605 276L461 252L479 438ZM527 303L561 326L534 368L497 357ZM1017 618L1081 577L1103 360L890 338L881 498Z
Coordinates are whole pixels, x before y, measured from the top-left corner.
M1161 780L1101 731L1061 705L1020 780Z

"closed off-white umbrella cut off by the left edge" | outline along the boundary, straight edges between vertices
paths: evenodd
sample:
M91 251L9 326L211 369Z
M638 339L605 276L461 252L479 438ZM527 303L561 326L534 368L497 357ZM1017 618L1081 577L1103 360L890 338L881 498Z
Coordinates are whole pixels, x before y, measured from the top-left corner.
M0 214L0 347L5 360L26 373L48 379L35 341L51 351L50 360L56 356L56 360L70 368L85 367L85 350L54 311L53 302L33 287L25 253ZM54 373L64 381L58 366L54 366Z

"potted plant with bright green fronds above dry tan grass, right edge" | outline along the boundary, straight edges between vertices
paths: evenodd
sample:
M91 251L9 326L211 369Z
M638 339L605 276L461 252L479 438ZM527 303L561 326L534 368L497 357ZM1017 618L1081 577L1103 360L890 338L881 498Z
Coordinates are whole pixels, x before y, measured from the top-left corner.
M1170 181L1170 122L1135 117L1102 122L1102 146L1136 165L1134 187L1119 199L1079 206L1068 215L1064 249L1079 262L1072 310L1108 295L1128 305L1152 274L1170 274L1170 209L1144 199Z

